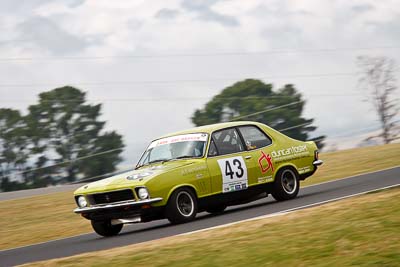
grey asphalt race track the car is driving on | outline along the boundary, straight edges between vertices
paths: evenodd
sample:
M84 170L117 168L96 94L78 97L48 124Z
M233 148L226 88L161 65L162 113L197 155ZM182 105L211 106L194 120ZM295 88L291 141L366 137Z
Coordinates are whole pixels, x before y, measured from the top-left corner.
M312 177L310 179L312 179ZM301 209L310 205L320 205L322 204L321 202L333 201L338 198L393 186L399 183L400 167L395 167L379 172L305 187L300 190L299 196L296 199L290 201L275 202L271 197L267 197L246 205L230 207L226 212L220 215L211 215L206 212L200 213L197 215L195 221L186 224L170 225L167 220L160 220L150 223L125 225L121 234L109 238L102 238L91 233L26 247L3 250L0 251L0 265L13 266L33 261L66 257L84 252L141 243L246 220L257 216L290 209ZM254 222L256 223L256 221Z

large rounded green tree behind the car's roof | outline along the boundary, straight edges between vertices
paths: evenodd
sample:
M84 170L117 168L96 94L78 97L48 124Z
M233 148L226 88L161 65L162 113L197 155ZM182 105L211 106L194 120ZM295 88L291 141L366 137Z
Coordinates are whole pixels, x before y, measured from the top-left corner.
M231 121L252 120L265 123L284 134L299 140L315 140L322 148L324 136L309 138L313 119L302 117L305 101L293 85L287 84L278 91L272 84L247 79L225 88L214 96L203 109L192 116L196 126Z

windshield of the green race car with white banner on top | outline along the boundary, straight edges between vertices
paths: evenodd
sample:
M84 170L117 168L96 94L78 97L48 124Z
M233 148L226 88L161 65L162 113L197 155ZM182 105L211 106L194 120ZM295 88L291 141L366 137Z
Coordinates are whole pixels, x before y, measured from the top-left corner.
M206 150L207 139L208 134L195 133L155 140L143 153L137 167L174 159L201 158Z

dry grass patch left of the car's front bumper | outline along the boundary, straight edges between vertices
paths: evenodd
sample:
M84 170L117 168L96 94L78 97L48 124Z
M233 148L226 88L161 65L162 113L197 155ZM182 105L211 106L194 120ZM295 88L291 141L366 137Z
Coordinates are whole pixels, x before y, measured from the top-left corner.
M72 192L1 201L0 249L90 232L90 223L72 212L75 206Z

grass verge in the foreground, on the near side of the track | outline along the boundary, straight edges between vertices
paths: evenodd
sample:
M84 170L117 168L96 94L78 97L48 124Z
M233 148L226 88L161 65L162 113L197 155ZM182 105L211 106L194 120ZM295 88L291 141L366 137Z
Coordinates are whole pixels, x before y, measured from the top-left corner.
M30 266L398 266L400 189Z

